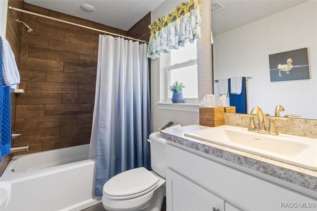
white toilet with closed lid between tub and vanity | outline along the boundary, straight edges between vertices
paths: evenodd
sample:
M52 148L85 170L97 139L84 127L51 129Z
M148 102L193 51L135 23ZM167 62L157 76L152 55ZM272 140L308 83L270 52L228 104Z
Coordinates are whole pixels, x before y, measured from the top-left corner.
M165 195L165 145L159 132L148 139L151 168L134 168L109 179L103 188L102 203L107 211L160 211Z

